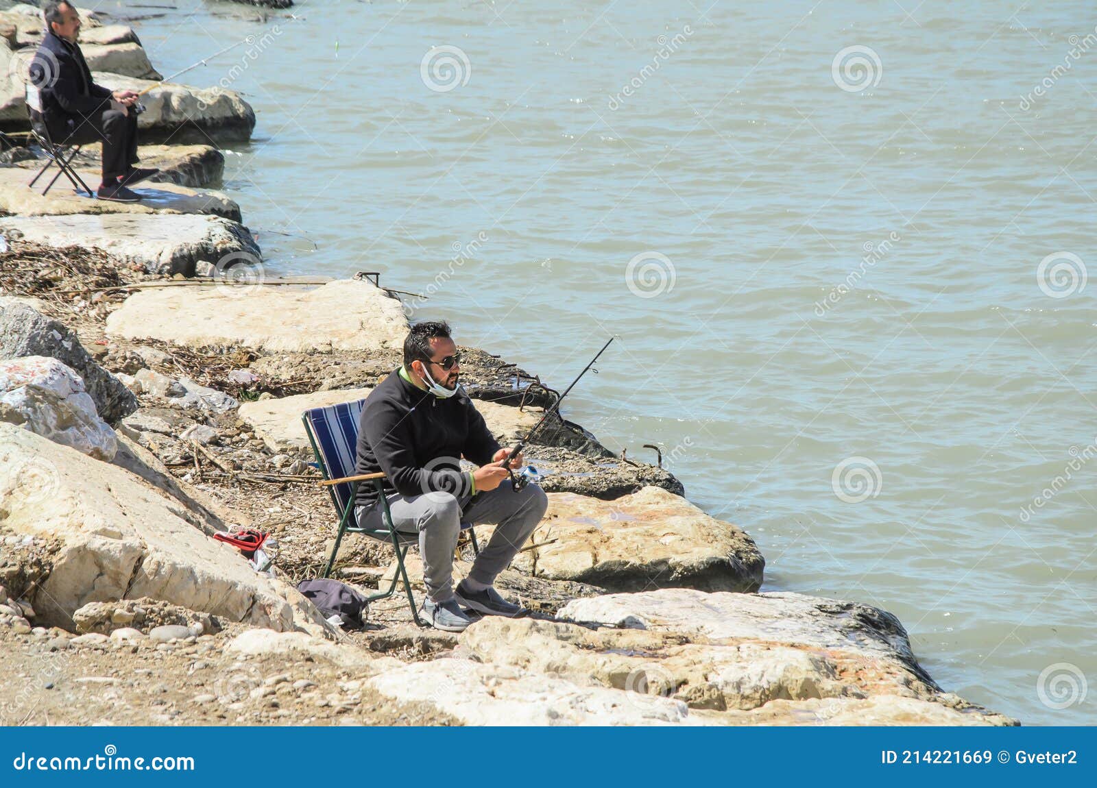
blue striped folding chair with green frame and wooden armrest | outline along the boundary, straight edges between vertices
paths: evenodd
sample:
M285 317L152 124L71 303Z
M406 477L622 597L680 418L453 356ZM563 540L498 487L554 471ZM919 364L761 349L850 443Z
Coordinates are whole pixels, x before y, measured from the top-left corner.
M343 534L362 534L377 541L391 543L396 551L397 564L393 582L387 591L366 597L366 602L392 596L396 592L397 580L403 580L404 590L408 595L408 604L411 606L411 617L417 625L422 626L422 621L419 620L419 610L415 604L415 596L411 594L411 583L408 581L407 569L404 566L408 547L418 543L419 536L396 530L393 526L393 514L388 510L388 499L384 494L384 482L382 481L385 478L384 473L353 475L358 452L358 426L362 418L363 404L365 404L365 400L343 402L327 408L314 408L305 411L301 416L305 424L305 433L308 435L308 443L313 446L313 454L320 468L320 476L324 477L320 484L328 488L331 503L335 505L336 512L339 513L339 532L336 535L335 547L331 548L331 557L328 558L328 566L324 570L324 576L327 578L331 573L331 567L336 562L336 555L339 552ZM383 515L382 522L387 527L363 528L359 525L354 516L354 496L358 484L362 481L372 482L376 487ZM476 544L476 532L472 524L462 523L461 529L468 530L473 551L478 555L479 545Z

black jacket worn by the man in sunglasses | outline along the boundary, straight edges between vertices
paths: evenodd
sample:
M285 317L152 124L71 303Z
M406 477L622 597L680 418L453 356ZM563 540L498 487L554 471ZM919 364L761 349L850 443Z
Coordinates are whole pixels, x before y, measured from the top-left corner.
M472 490L468 472L461 472L457 460L486 465L498 450L499 443L468 395L459 391L440 399L396 370L365 398L355 472L384 471L386 495L442 491L461 498ZM376 500L373 482L359 483L359 506Z

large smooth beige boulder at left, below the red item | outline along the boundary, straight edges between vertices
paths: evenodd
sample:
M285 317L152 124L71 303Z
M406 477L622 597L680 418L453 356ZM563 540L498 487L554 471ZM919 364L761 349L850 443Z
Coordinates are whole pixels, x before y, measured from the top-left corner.
M38 615L71 621L89 602L143 596L292 630L289 592L137 477L0 422L0 530L56 540ZM283 584L284 585L284 584Z

